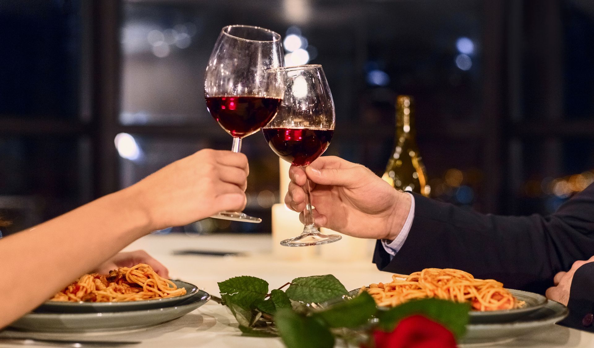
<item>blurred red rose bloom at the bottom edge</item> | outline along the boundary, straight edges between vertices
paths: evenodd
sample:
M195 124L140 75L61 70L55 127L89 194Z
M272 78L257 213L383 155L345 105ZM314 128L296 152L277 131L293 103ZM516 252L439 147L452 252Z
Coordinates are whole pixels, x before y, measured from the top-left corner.
M422 315L404 318L392 332L375 330L375 348L455 348L454 335Z

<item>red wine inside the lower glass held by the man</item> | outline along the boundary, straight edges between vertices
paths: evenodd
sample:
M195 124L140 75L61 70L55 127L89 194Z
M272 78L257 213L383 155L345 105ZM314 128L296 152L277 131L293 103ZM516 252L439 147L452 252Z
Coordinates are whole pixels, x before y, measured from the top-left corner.
M308 166L328 148L334 130L324 128L263 128L270 148L294 166Z

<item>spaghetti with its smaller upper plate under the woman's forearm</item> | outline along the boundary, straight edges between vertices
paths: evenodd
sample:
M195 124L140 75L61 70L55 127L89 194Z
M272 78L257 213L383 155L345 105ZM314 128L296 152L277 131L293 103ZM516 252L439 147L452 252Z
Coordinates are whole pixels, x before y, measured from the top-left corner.
M195 285L159 276L151 266L140 263L122 267L107 275L81 276L36 312L116 312L173 306L198 292Z

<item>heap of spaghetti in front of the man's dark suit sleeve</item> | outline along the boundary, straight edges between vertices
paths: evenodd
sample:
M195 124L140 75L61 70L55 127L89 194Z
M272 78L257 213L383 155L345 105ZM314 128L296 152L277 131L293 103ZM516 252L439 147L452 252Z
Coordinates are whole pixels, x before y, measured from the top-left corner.
M473 310L478 311L510 310L525 305L514 298L503 283L475 279L459 269L426 268L410 275L395 274L390 283L371 284L361 291L367 291L380 307L394 307L421 298L470 302Z

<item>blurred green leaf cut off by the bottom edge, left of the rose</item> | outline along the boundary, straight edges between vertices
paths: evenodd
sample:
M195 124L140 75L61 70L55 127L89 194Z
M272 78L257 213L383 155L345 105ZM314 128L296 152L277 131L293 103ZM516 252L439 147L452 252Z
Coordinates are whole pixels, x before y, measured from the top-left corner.
M332 348L334 336L314 317L279 308L274 315L277 330L287 348Z

